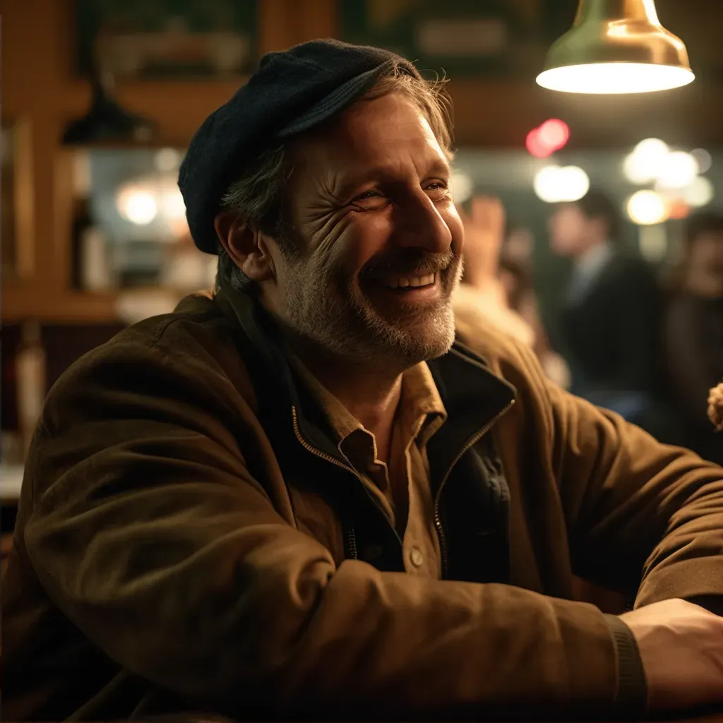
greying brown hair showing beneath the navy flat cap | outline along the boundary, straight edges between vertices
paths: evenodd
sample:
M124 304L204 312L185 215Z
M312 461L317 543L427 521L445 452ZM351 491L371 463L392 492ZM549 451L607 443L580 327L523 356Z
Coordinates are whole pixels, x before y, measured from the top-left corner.
M445 84L444 78L423 80L408 74L399 64L392 64L356 102L375 100L391 93L405 95L424 114L442 151L451 160L451 103L444 90ZM333 116L330 121L335 117L338 116ZM231 211L254 230L273 237L281 252L289 256L301 252L299 238L288 218L285 195L294 172L288 144L297 142L300 137L264 150L253 158L221 197L221 210ZM220 240L215 286L217 291L228 287L234 291L249 291L252 287L252 281L236 266Z

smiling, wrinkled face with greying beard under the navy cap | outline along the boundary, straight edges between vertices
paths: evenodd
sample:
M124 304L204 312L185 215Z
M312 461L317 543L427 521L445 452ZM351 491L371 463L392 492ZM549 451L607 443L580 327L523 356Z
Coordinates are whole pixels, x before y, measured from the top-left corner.
M402 95L362 101L293 155L289 213L301 251L276 254L275 311L362 364L445 354L463 231L424 116Z

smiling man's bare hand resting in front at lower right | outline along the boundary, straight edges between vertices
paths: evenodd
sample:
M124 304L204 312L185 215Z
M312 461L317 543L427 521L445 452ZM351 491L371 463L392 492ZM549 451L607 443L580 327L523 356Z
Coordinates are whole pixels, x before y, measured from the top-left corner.
M723 703L723 617L675 599L620 620L638 641L651 711Z

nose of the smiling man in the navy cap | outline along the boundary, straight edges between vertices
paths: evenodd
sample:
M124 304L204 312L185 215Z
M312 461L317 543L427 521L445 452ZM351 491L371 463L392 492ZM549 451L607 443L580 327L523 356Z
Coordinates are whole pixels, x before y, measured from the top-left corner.
M395 205L395 216L395 240L400 247L439 254L452 244L452 231L447 221L422 189Z

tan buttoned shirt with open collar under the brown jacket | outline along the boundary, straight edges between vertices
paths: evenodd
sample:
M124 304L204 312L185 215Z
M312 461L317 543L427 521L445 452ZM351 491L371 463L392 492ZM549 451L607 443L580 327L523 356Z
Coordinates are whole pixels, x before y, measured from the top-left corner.
M359 474L401 537L406 571L439 579L442 556L429 486L427 442L444 424L447 411L427 364L422 361L402 375L389 463L385 463L377 459L377 440L372 432L299 359L293 361L337 433L339 452Z

